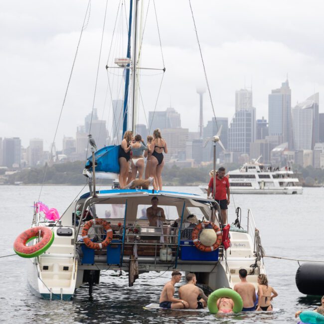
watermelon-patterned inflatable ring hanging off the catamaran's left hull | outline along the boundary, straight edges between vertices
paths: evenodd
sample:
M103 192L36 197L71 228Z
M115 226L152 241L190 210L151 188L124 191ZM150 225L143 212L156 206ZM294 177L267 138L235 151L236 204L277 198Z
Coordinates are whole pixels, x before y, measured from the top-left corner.
M38 237L41 240L34 244L27 246L26 244ZM13 250L22 258L34 258L44 253L53 243L54 233L45 226L31 227L20 233L13 243Z

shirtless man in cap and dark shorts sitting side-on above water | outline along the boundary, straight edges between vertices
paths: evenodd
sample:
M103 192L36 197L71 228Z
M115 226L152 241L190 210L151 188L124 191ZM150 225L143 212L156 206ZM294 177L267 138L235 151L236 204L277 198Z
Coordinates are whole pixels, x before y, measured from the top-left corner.
M163 287L160 297L160 307L172 310L188 308L189 304L186 301L173 297L175 291L174 285L181 280L181 272L174 270L171 276L171 281L167 282Z

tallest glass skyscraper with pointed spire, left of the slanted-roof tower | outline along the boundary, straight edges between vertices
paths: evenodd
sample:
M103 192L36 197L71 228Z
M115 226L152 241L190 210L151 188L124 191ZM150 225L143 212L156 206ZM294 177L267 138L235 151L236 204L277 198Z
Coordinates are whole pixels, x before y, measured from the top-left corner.
M289 147L293 147L291 89L288 80L269 95L269 135L280 135L283 142L288 142Z

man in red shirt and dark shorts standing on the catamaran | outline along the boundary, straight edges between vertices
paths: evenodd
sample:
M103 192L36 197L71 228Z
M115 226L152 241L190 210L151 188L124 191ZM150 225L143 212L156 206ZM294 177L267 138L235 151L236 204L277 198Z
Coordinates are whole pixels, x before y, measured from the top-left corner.
M208 184L207 197L213 192L214 177L212 177ZM227 224L227 205L229 205L229 181L225 176L225 167L221 166L216 172L216 189L213 195L214 199L218 202L222 213L223 224Z

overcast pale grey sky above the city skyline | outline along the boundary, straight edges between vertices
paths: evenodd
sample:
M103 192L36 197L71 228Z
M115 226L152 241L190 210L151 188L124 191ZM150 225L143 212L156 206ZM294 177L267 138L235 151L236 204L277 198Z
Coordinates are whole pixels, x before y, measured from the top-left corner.
M126 53L126 7L109 0L100 53L106 1L92 0L67 93L56 147L62 138L75 137L77 125L92 106L111 125L111 98L105 65ZM149 0L144 1L146 18ZM182 127L198 130L196 87L204 74L187 0L155 0L166 72L157 110L170 104L181 113ZM324 93L324 30L321 1L304 0L191 0L216 116L234 114L235 90L253 87L257 118L268 118L268 94L288 74L292 105L315 92ZM0 137L43 138L52 142L72 68L88 0L0 1ZM129 1L126 1L129 5ZM122 15L123 12L123 15ZM116 20L117 16L117 20ZM153 0L145 26L142 61L162 68ZM113 29L117 21L114 37ZM109 50L111 49L110 55ZM125 56L122 55L122 56ZM108 59L109 58L109 59ZM116 72L115 72L116 71ZM113 99L120 93L118 70L109 74ZM161 81L160 71L143 70L139 122L153 110ZM113 83L117 85L113 85ZM119 84L119 86L118 86ZM109 88L108 88L109 89ZM142 100L141 100L142 102ZM213 116L204 96L204 122Z

